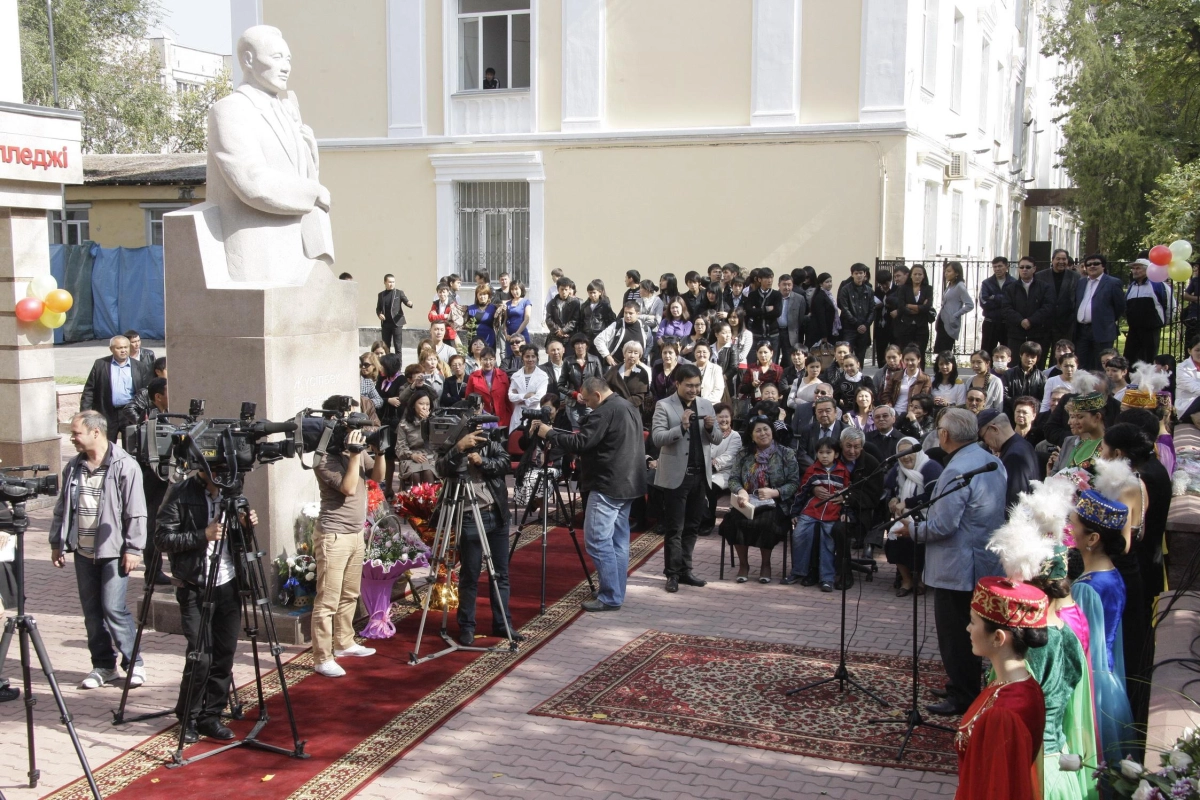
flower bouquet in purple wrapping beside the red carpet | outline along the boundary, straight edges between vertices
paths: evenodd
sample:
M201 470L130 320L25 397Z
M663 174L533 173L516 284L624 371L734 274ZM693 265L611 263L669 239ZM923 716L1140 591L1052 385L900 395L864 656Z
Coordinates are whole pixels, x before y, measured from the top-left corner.
M361 596L371 621L362 628L362 636L368 639L386 639L396 634L396 626L388 615L391 608L391 588L409 570L428 566L430 548L420 536L403 530L400 518L384 503L367 519L367 531Z

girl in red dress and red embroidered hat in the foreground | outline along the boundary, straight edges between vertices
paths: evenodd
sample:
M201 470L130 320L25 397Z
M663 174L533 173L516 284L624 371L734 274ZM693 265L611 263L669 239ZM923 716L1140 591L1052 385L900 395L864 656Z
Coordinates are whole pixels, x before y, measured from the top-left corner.
M1045 699L1025 668L1030 648L1046 643L1040 589L1008 578L982 578L971 600L971 650L991 661L996 679L962 715L954 736L959 751L955 800L1037 800L1042 790Z

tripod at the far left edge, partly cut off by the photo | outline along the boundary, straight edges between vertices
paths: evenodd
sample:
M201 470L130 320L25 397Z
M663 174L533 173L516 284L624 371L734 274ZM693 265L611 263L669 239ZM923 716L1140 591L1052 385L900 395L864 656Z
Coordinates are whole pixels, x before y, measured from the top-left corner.
M17 633L20 643L20 674L25 687L25 736L29 741L29 787L35 788L42 775L41 770L37 769L37 753L34 745L34 705L37 704L37 700L30 692L32 686L29 645L32 642L34 650L37 652L37 661L42 664L42 672L46 673L46 682L50 685L50 693L54 694L54 702L59 706L59 716L62 720L62 724L67 728L71 744L74 745L76 756L79 758L79 765L83 766L84 777L88 778L91 796L100 800L100 787L96 786L96 778L91 774L91 766L88 765L88 757L84 754L83 745L79 742L79 734L76 733L74 722L71 718L71 712L67 710L66 700L62 699L62 691L59 688L59 681L54 676L54 667L50 666L50 656L46 652L42 634L37 631L37 621L25 613L25 530L29 528L29 518L25 516L25 501L8 498L5 498L5 501L12 506L11 530L12 535L17 537L17 558L13 561L17 573L17 615L10 616L4 624L4 637L0 638L0 674L4 673L4 666L8 658L8 645L12 644L13 633Z

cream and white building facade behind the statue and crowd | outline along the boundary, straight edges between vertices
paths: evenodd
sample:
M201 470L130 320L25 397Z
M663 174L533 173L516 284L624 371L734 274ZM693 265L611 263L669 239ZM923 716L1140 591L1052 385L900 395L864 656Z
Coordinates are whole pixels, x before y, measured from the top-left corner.
M629 269L841 276L1014 257L1051 224L1069 242L1061 211L1024 207L1055 163L1046 1L232 0L232 18L288 41L336 267L373 319L385 272L424 299L508 271L540 300L553 267L614 295Z

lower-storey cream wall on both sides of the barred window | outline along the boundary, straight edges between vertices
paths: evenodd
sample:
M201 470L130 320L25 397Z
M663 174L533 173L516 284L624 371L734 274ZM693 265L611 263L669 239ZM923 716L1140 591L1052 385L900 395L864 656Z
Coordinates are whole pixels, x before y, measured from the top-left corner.
M430 152L342 150L322 157L334 197L335 269L358 279L362 320L372 319L385 272L397 276L421 312L409 321L424 319L420 301L432 296L437 276ZM559 145L541 152L546 272L560 266L581 284L599 277L618 289L628 269L658 278L713 261L776 272L811 264L840 279L854 261L872 264L880 249L880 157L902 164L904 138ZM889 196L902 197L902 187L901 175ZM889 203L890 230L902 223L902 207Z

